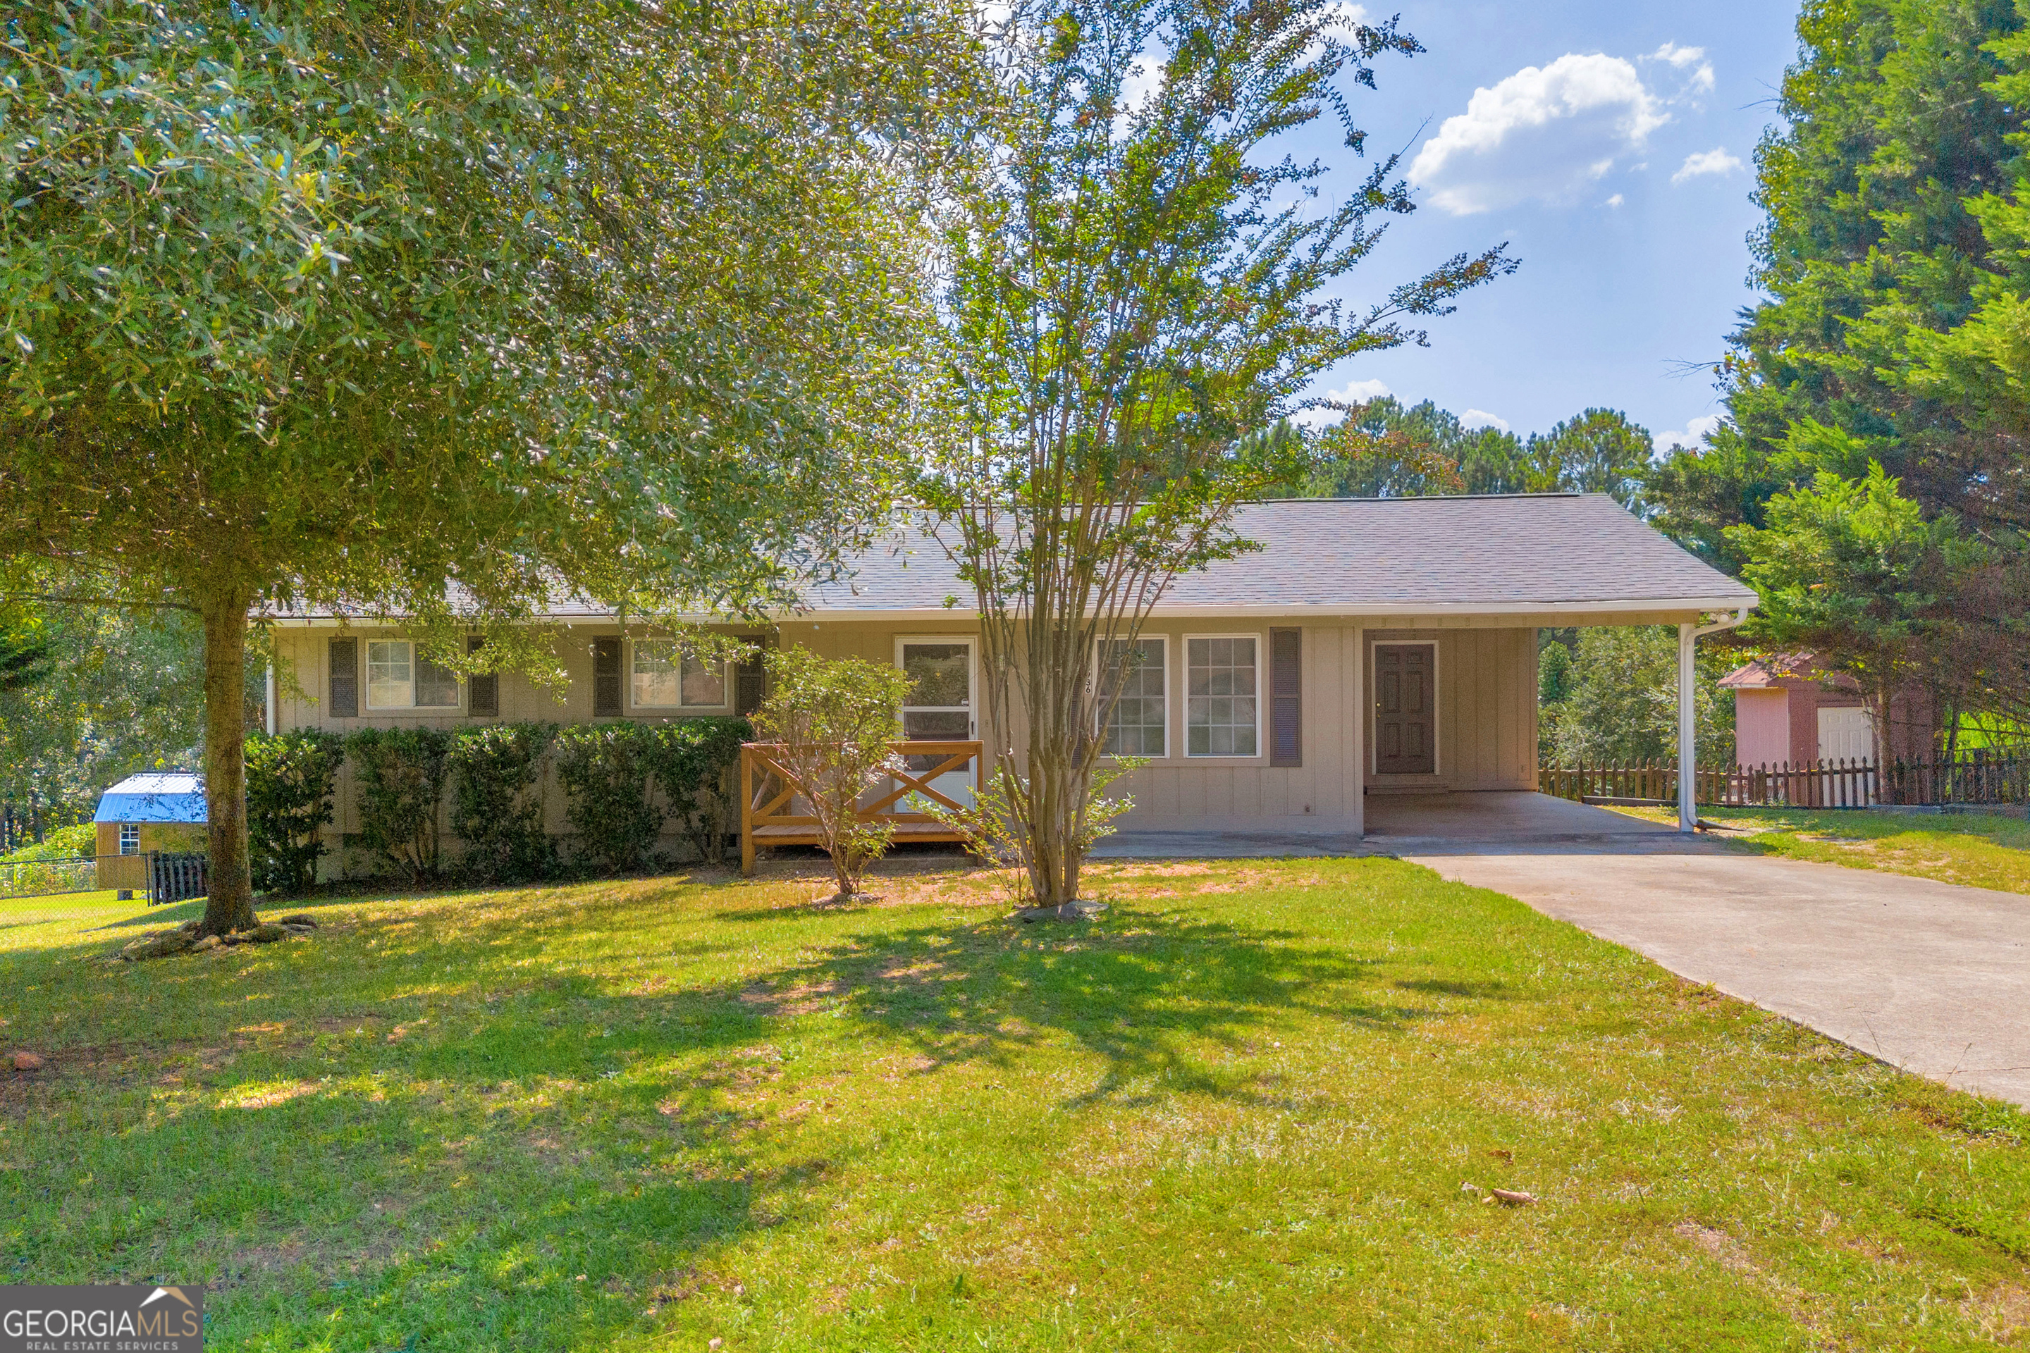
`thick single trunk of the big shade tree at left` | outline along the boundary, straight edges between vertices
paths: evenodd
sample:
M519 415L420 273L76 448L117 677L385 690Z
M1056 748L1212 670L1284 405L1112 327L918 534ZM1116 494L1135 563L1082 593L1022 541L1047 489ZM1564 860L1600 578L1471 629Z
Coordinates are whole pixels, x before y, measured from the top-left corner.
M235 592L205 598L205 817L211 838L205 935L254 929L248 866L248 602Z

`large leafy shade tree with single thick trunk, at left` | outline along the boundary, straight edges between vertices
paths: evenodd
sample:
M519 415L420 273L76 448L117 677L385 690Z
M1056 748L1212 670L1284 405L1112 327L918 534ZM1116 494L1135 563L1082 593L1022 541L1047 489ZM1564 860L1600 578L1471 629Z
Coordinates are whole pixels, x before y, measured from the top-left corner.
M964 41L802 0L10 6L0 560L199 617L207 933L254 923L250 615L536 667L560 588L751 611L865 525L893 197Z

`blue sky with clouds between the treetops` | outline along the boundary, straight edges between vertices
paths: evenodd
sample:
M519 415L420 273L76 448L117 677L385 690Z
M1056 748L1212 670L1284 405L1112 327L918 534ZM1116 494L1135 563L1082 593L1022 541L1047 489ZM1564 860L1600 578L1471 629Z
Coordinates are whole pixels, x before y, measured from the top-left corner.
M1346 6L1352 8L1352 6ZM1754 148L1797 53L1784 0L1405 0L1429 51L1352 91L1368 154L1403 150L1419 211L1399 217L1346 296L1368 300L1458 254L1508 241L1520 272L1431 323L1431 347L1360 357L1319 389L1435 400L1470 422L1543 432L1620 408L1697 436L1721 412L1709 373L1746 284ZM1305 150L1366 164L1317 124Z

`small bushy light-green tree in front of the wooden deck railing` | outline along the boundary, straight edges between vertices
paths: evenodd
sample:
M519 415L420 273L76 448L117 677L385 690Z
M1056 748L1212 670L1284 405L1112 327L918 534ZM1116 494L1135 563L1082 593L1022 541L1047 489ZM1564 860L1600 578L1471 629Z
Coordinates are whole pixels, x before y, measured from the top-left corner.
M891 824L861 822L859 803L901 765L891 744L909 678L887 663L804 647L769 649L763 661L769 694L755 710L755 734L810 803L838 895L853 897L895 834Z

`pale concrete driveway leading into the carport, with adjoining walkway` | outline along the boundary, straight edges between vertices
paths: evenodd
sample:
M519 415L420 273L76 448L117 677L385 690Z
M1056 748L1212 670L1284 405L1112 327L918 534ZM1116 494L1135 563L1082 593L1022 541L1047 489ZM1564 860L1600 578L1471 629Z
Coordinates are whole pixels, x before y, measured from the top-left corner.
M1108 854L1143 854L1123 832ZM1395 854L1916 1075L2030 1108L2030 897L1748 854L1529 793L1368 799L1368 836L1147 854ZM1303 850L1305 842L1311 850Z

